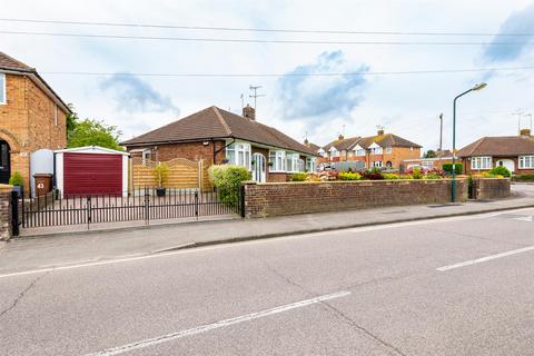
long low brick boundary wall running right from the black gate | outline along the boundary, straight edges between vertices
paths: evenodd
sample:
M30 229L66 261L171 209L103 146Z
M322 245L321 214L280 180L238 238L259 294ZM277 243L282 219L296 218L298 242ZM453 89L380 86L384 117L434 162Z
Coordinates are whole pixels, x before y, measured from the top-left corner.
M457 201L467 179L457 180ZM451 179L245 184L247 218L451 201Z

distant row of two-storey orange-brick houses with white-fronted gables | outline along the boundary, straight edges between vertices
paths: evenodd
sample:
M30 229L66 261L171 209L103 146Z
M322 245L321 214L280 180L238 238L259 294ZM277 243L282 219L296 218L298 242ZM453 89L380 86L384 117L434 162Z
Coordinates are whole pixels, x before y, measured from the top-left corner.
M319 162L354 161L363 168L386 167L399 169L405 159L421 157L421 146L393 134L378 130L368 137L344 138L329 142L319 149Z

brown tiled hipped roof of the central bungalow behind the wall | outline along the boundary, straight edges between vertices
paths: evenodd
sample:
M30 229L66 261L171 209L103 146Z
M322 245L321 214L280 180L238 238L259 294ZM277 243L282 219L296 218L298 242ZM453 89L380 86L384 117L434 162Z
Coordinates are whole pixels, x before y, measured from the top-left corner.
M180 120L121 142L123 146L237 138L308 155L315 151L289 136L256 120L209 107Z

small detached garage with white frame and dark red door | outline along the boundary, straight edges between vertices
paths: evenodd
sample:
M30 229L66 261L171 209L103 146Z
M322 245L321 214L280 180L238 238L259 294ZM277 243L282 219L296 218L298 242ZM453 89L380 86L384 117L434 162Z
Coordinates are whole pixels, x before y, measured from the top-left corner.
M56 185L63 195L128 195L129 154L98 146L55 154Z

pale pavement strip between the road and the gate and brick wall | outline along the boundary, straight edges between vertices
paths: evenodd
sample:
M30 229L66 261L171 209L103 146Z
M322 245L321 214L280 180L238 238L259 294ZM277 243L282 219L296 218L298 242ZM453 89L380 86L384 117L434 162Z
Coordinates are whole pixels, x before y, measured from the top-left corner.
M510 199L461 205L396 206L253 220L233 218L16 238L0 249L0 273L285 235L534 207L534 186L512 187L513 197Z

